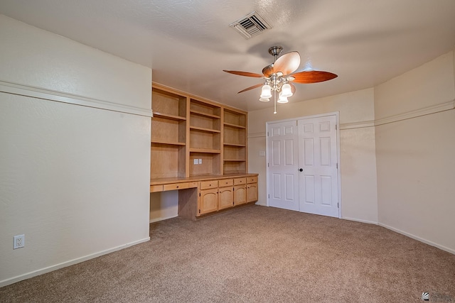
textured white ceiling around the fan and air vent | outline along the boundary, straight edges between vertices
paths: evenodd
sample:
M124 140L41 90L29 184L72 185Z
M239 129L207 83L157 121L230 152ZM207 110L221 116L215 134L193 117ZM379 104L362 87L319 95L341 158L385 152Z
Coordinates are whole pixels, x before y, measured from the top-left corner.
M250 40L229 27L257 11L272 29ZM296 84L289 101L373 87L455 47L454 0L1 0L0 13L153 68L153 80L248 111L268 49L296 50L299 70L338 78ZM431 75L429 75L431 77Z

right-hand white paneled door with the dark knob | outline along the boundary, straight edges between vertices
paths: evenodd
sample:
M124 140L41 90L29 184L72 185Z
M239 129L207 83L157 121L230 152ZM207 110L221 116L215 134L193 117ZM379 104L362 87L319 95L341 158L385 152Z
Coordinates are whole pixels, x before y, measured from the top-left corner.
M336 116L299 119L299 209L338 217Z

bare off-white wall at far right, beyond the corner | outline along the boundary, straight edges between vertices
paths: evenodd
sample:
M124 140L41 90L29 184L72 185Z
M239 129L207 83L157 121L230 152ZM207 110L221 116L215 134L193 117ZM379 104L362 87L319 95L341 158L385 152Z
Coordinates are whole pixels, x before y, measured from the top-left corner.
M454 52L375 87L381 225L455 253Z

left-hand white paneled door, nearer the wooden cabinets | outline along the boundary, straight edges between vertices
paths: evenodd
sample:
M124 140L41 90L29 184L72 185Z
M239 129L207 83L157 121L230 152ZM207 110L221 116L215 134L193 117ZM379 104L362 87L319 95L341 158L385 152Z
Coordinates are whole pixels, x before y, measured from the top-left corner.
M299 210L298 128L296 121L268 127L269 206Z

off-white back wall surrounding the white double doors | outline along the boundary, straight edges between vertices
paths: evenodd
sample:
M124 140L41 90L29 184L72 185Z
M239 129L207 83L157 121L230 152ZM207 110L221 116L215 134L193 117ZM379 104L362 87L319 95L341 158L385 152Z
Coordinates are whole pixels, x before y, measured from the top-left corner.
M297 89L299 89L297 87ZM342 216L378 223L373 89L363 89L308 101L292 100L278 107L278 113L262 109L248 113L248 166L259 173L259 201L267 204L265 123L283 119L340 112L341 207Z

